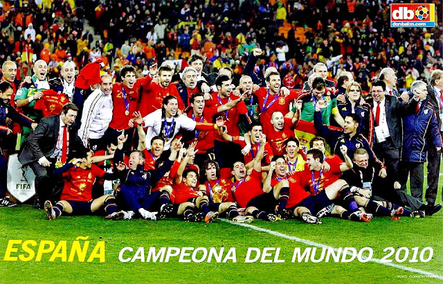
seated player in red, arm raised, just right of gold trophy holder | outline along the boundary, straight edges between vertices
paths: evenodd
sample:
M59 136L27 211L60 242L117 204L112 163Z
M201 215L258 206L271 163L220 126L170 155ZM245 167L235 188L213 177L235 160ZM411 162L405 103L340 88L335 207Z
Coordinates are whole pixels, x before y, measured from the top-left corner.
M265 191L262 189L262 158L266 136L260 133L260 148L253 162L253 170L250 175L246 173L246 167L243 162L233 164L233 176L235 182L231 190L237 204L246 208L246 214L254 218L275 222L281 220L275 216L275 205L277 205L280 192L275 189Z

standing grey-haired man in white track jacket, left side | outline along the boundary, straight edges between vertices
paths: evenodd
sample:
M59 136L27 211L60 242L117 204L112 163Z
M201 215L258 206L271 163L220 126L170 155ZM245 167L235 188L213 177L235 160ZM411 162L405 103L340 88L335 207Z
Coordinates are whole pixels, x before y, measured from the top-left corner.
M84 102L82 125L78 136L84 146L93 151L105 149L107 144L102 138L112 120L114 106L112 104L112 77L102 75L100 88L93 91Z

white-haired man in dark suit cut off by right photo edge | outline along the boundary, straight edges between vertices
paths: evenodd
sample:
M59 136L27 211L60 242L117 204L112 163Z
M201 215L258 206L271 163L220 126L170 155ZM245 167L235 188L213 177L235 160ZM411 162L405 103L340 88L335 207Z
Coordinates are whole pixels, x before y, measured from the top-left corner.
M443 71L433 70L431 73L430 85L428 85L429 102L433 105L437 116L438 130L440 136L443 133ZM431 142L431 135L428 135L428 144ZM426 188L425 199L429 206L435 205L435 197L438 191L438 177L440 173L440 161L442 151L437 151L435 147L428 148L428 187ZM443 193L442 193L443 195Z

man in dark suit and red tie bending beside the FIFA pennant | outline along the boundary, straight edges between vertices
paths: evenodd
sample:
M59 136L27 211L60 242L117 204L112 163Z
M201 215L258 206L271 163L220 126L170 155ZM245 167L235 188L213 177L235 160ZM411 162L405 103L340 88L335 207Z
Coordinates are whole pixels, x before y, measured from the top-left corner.
M75 153L88 151L72 127L77 113L75 104L65 104L60 115L44 117L21 146L19 161L35 173L37 209L42 208L42 201L55 197L53 170L62 167L68 155L75 157Z

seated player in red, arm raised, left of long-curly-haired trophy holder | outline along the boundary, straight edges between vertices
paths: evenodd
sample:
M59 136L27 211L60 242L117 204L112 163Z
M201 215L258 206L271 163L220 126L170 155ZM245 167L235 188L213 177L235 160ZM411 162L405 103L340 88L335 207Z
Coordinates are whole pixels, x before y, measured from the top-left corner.
M196 143L192 143L185 158L180 163L175 177L172 191L172 202L177 205L177 215L183 215L183 220L187 222L199 222L205 220L210 223L217 218L218 212L210 211L209 198L206 196L206 187L198 182L198 172L195 168L185 169L188 161L195 156L197 150Z

